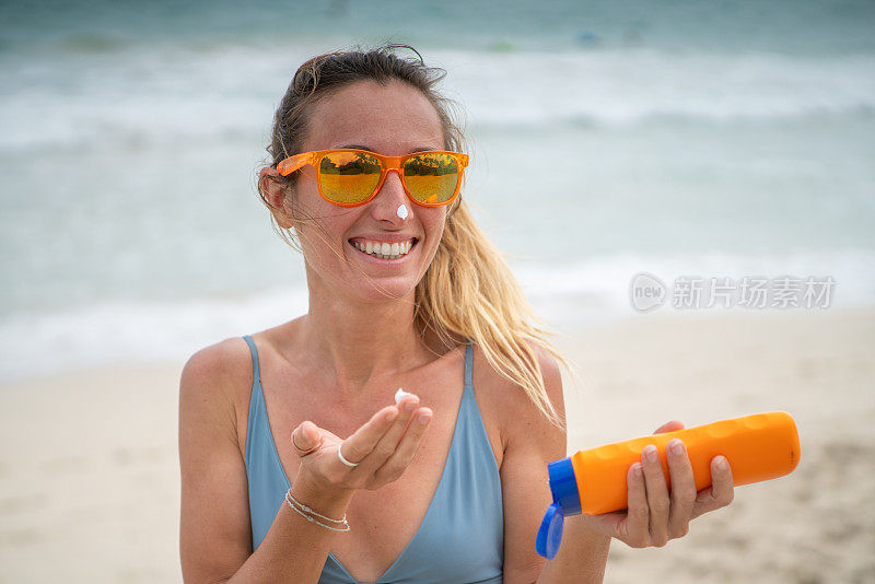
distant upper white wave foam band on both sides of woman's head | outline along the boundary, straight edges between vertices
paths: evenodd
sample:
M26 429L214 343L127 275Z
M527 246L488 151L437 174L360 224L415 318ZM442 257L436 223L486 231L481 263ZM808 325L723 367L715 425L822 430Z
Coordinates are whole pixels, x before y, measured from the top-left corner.
M264 139L314 47L159 46L5 63L0 150ZM474 125L772 119L875 110L875 57L615 49L440 51L445 89Z

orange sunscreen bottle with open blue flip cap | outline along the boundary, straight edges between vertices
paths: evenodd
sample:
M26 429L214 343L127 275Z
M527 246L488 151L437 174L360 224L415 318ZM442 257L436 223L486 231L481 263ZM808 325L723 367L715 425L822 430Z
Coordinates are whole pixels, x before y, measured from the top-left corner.
M687 447L697 491L711 484L711 459L718 455L728 460L736 486L783 477L800 462L796 423L784 411L755 413L581 451L548 466L553 503L538 530L538 553L548 559L556 557L565 515L597 515L626 509L629 467L641 460L641 452L649 444L660 452L670 489L665 449L673 439L680 439Z

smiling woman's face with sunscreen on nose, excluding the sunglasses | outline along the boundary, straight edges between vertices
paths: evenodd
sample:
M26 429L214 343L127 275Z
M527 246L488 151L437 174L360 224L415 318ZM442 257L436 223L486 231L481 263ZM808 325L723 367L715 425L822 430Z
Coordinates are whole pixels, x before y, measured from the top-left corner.
M338 90L314 106L308 129L303 152L357 148L398 156L445 148L434 106L418 90L397 81L386 85L359 81ZM296 227L311 287L324 287L332 294L365 301L408 295L425 273L443 234L446 208L410 201L394 172L368 203L339 207L319 196L316 170L307 165L293 197L295 208L323 227L310 221ZM401 205L406 219L398 213ZM399 250L405 245L410 250L383 259L357 247L366 249L368 243L397 243Z

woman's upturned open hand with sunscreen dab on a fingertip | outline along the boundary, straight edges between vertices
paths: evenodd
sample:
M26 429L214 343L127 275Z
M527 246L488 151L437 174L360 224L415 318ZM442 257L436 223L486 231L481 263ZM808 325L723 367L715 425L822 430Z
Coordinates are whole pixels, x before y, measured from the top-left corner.
M346 440L308 420L302 422L292 431L292 447L301 456L299 477L304 474L308 483L320 489L380 489L410 466L431 418L431 409L420 408L419 398L408 394L397 406L374 413ZM358 466L345 465L338 448Z

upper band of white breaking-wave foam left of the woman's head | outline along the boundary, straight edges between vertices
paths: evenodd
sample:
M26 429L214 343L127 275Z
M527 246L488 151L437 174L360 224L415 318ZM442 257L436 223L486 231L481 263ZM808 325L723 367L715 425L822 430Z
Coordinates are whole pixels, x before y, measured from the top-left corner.
M178 140L264 139L289 83L289 61L254 47L138 47L9 63L0 149L138 148Z

